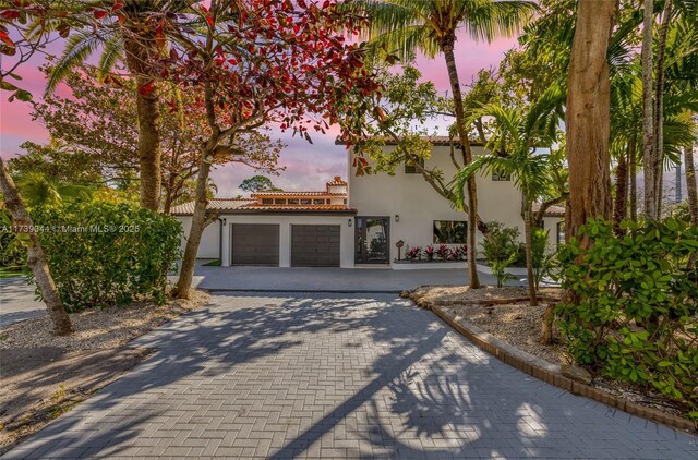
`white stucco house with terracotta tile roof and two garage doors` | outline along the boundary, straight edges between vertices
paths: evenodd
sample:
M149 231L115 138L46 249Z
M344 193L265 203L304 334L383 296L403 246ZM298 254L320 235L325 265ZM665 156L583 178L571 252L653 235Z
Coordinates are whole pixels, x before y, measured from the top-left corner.
M430 141L433 150L425 166L436 166L445 177L453 177L456 169L448 138ZM485 152L479 144L472 148L473 155ZM260 192L245 199L212 199L209 208L217 209L220 218L204 231L198 257L220 258L224 266L350 268L365 264L405 268L397 259L398 255L405 257L407 246L466 243L466 214L455 209L414 167L401 165L392 175L356 175L351 170L353 149L347 152L348 183L337 177L324 191ZM480 217L516 226L522 234L521 194L512 178L479 174L477 184ZM172 209L185 232L192 211L193 203ZM564 209L553 207L544 218L552 243L561 234L563 217ZM480 233L478 239L482 240Z

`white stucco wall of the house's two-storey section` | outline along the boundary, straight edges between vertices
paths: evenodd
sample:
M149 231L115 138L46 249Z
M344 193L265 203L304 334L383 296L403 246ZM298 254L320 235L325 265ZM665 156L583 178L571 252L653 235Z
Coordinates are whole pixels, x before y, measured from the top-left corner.
M385 148L395 148L387 146ZM482 155L483 147L473 146L474 155ZM350 155L353 155L350 153ZM349 165L353 164L349 159ZM447 146L434 146L432 157L425 167L437 166L444 171L448 183L456 172ZM402 240L410 246L425 246L433 243L434 220L467 220L467 215L454 209L421 174L406 174L402 165L395 168L395 175L387 173L356 175L349 167L349 207L358 210L357 216L390 217L390 261L397 257L395 243ZM513 181L493 181L491 175L478 175L478 211L484 221L496 220L506 227L519 227L524 235L521 219L521 194ZM399 221L395 221L395 216ZM556 221L557 219L554 219ZM555 241L552 221L551 242ZM482 234L478 232L478 243ZM478 244L478 249L480 249Z

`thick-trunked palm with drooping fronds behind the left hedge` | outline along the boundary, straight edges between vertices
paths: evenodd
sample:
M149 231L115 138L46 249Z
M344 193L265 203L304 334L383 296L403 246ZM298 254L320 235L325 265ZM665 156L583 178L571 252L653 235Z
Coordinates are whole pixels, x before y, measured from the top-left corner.
M163 36L148 24L153 13L181 12L189 8L185 0L125 0L123 24L76 31L67 41L62 56L55 63L47 92L71 71L83 64L95 51L101 50L98 75L101 80L123 63L135 80L139 122L139 159L141 174L141 206L159 210L160 205L160 136L158 131L159 94L155 83L153 61L161 52Z

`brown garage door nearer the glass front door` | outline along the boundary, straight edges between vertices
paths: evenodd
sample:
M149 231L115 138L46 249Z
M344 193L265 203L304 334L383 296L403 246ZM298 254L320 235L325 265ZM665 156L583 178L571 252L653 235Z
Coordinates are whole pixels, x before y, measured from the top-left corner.
M338 267L339 226L291 226L292 267Z

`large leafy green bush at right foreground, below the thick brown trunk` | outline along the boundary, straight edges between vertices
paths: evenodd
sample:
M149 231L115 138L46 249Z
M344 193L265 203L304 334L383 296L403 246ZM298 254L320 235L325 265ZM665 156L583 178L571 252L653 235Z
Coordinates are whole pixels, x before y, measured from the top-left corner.
M612 378L654 387L687 403L698 419L698 228L662 222L590 220L559 251L563 287L574 303L561 304L559 329L575 360ZM575 264L578 262L578 264Z

